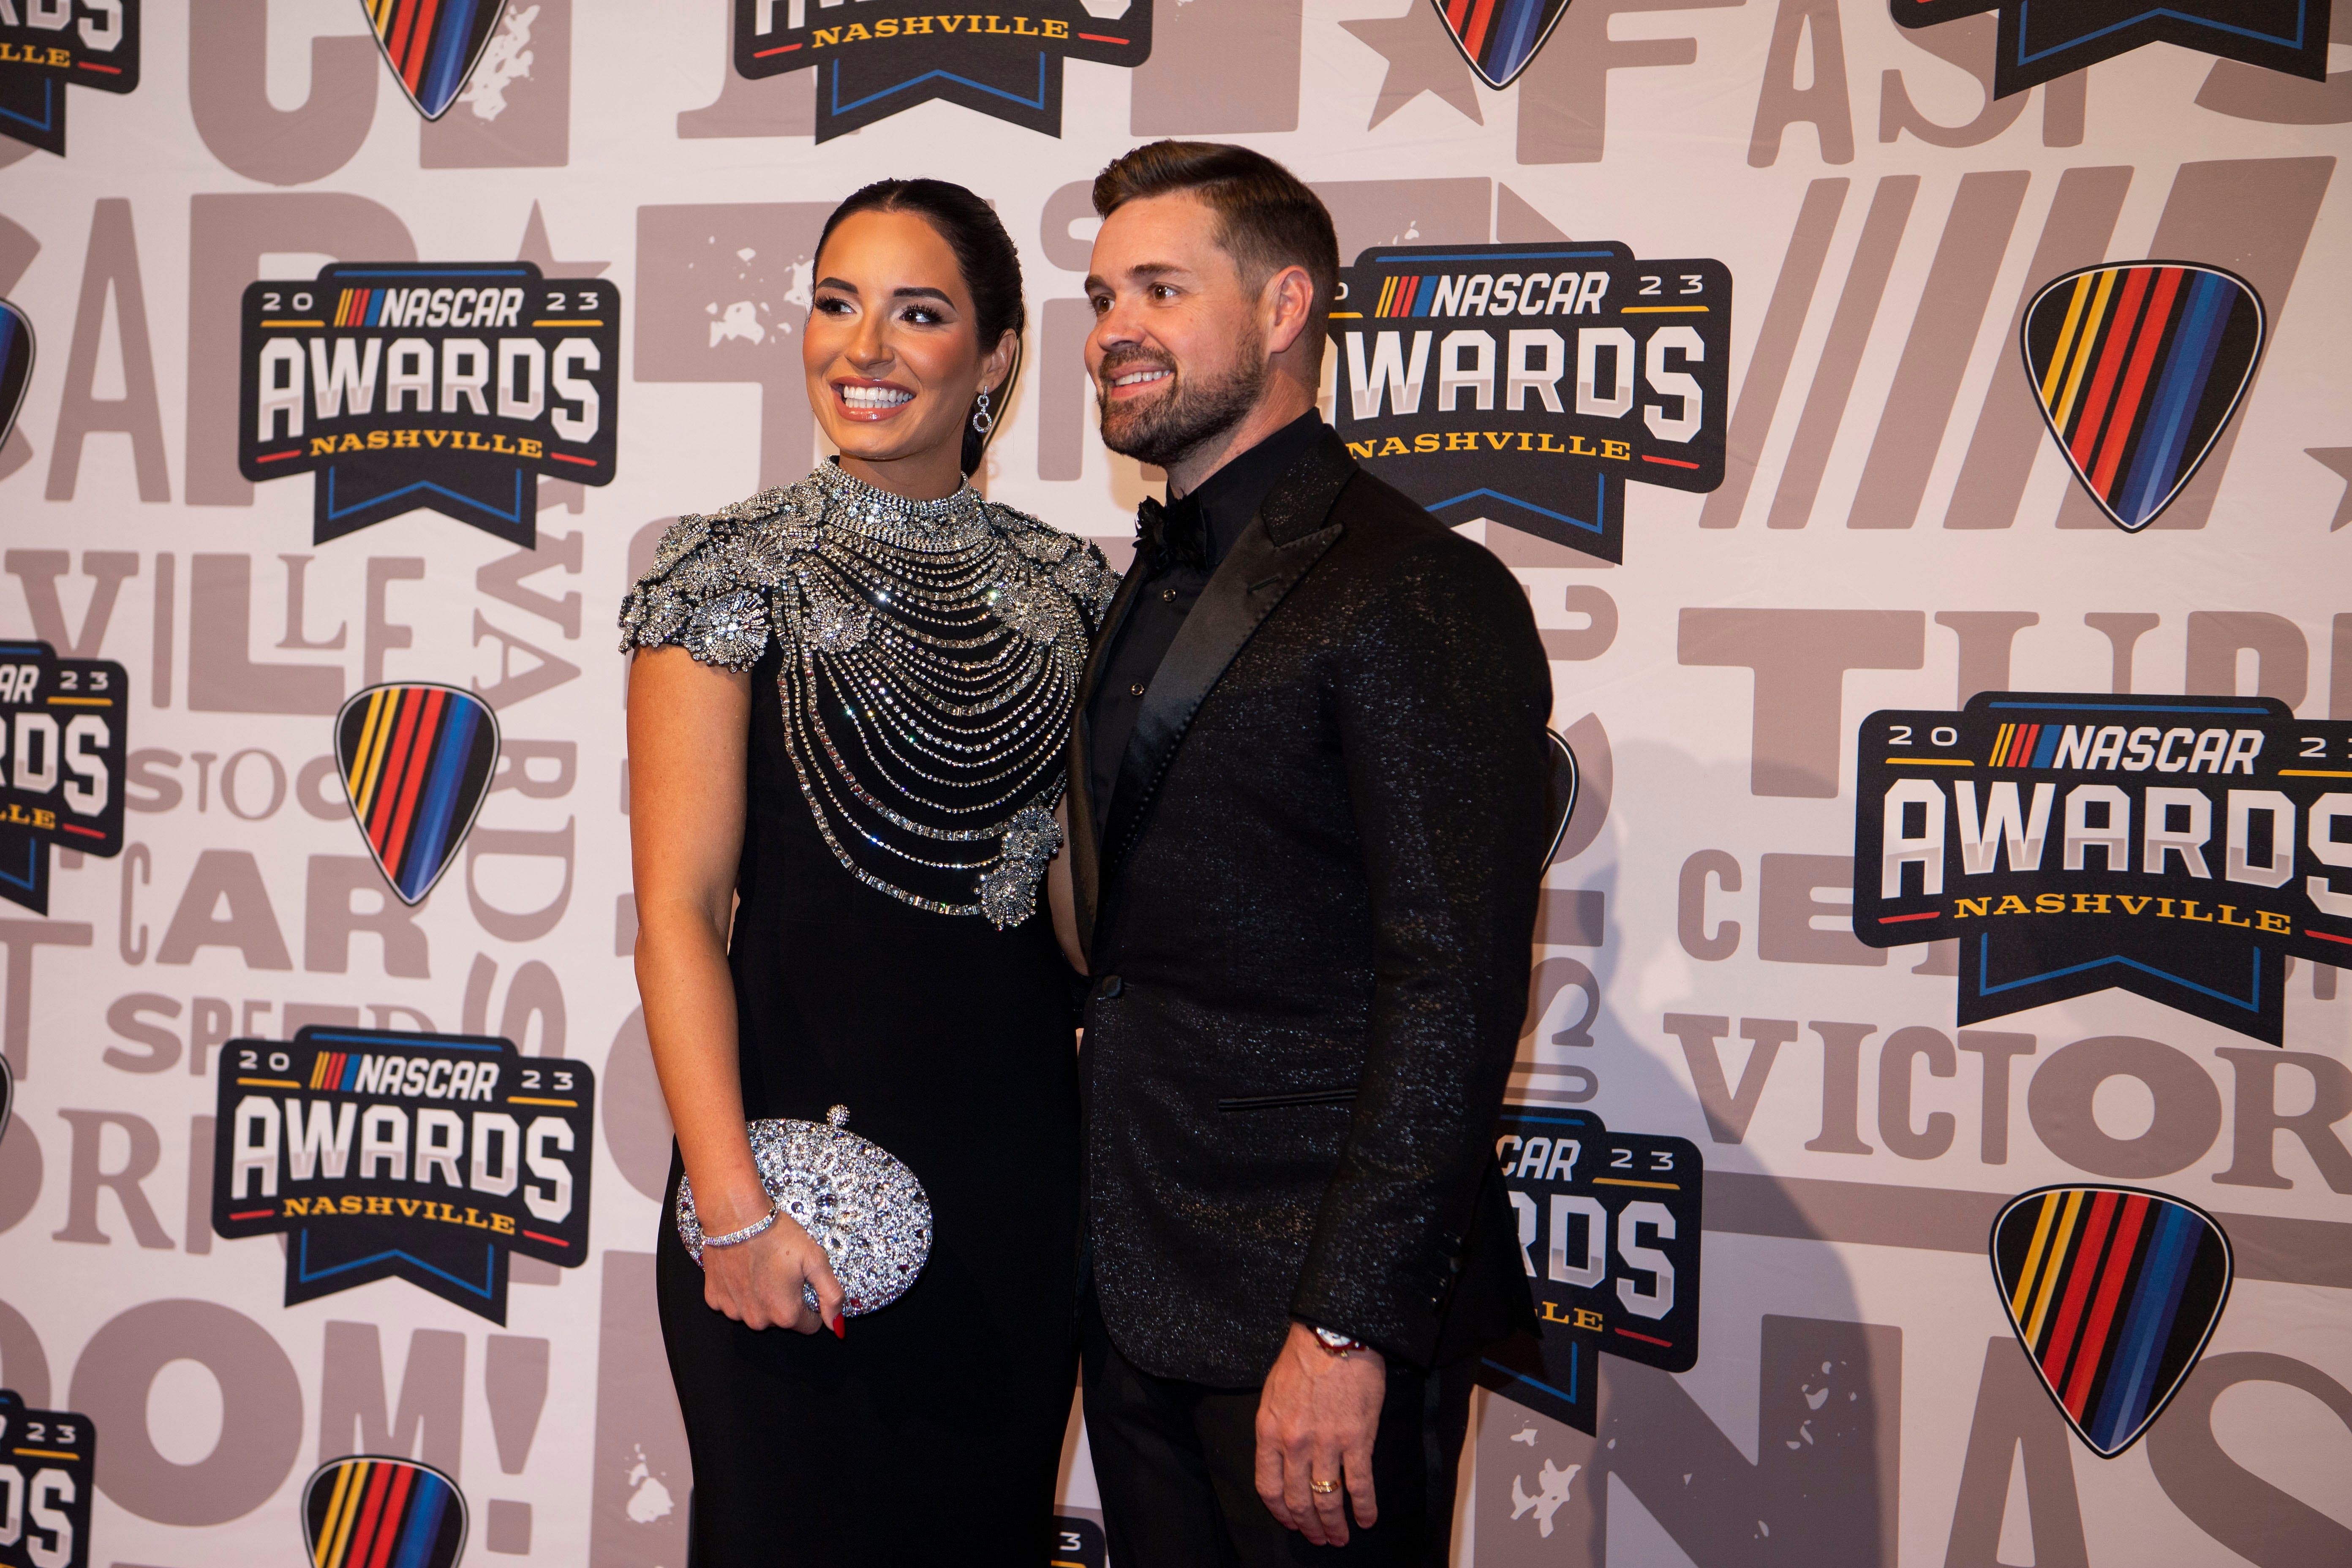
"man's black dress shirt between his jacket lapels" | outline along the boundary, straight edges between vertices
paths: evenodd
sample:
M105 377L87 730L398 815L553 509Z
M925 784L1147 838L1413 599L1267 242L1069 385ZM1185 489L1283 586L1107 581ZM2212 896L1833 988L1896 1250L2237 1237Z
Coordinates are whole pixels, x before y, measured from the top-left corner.
M1143 590L1112 632L1110 656L1103 661L1103 677L1087 703L1091 731L1091 778L1094 835L1103 837L1110 823L1110 792L1120 783L1120 762L1127 757L1127 741L1136 733L1136 712L1143 693L1150 691L1160 661L1176 642L1176 628L1192 614L1192 602L1209 585L1218 562L1232 550L1242 529L1258 515L1258 503L1275 480L1291 465L1308 442L1322 430L1322 414L1308 409L1282 425L1263 442L1200 482L1192 494L1167 505L1167 531L1171 536L1202 529L1207 536L1207 564L1152 562L1138 541L1134 571L1143 571Z

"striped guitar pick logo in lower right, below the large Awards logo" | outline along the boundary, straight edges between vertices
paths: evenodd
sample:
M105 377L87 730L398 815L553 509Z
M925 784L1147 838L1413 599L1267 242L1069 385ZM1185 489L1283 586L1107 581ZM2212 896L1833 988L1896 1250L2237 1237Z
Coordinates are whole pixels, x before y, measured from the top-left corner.
M1992 1276L2042 1387L2103 1460L2131 1448L2230 1300L2230 1237L2136 1187L2039 1187L1992 1220Z

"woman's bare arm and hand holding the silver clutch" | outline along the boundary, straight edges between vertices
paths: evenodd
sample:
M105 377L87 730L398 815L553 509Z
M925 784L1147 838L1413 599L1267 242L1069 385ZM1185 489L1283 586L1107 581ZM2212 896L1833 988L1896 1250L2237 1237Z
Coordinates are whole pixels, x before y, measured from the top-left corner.
M727 929L743 853L750 677L699 665L684 649L644 649L628 679L630 863L637 886L637 994L661 1095L708 1234L769 1211L743 1135ZM814 1258L811 1258L814 1253ZM706 1298L753 1328L816 1331L840 1312L823 1251L790 1220L746 1246L703 1253Z

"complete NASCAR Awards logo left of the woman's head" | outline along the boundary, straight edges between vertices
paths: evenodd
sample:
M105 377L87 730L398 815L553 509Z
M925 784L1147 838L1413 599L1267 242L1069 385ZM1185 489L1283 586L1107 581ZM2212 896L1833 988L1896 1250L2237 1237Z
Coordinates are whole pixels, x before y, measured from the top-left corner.
M310 473L313 541L430 508L522 548L536 475L609 484L621 292L529 261L332 263L245 289L238 470Z

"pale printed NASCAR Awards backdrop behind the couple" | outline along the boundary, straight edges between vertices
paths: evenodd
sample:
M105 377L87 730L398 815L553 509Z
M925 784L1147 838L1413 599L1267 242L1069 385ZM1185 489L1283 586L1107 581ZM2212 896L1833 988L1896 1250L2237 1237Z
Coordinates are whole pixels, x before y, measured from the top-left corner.
M1124 562L1155 136L1324 195L1327 416L1581 764L1458 1561L2352 1561L2328 26L0 0L0 1563L682 1563L612 616L818 456L889 174L1021 244L985 489Z

